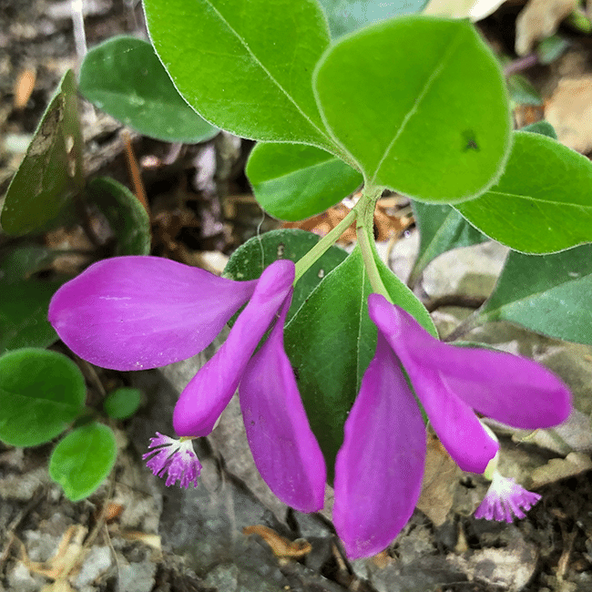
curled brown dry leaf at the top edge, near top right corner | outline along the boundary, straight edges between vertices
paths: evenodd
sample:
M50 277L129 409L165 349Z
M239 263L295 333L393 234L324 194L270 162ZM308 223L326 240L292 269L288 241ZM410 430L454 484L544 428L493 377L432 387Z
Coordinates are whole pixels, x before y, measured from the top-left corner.
M537 41L553 35L577 0L529 0L515 23L515 53L526 56Z

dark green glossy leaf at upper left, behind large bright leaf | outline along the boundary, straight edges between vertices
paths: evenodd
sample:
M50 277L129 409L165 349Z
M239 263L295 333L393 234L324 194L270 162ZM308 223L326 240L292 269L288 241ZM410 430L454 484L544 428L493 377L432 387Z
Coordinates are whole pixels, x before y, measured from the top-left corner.
M79 87L99 109L149 138L192 144L219 132L179 95L154 48L136 37L112 37L91 49Z

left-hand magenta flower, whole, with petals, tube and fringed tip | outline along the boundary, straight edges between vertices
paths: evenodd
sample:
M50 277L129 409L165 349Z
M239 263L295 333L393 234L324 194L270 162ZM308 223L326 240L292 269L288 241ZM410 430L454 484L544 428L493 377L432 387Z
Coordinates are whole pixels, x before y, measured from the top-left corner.
M283 348L293 281L290 260L275 261L259 280L232 281L157 257L118 257L62 286L49 321L88 362L140 370L199 353L246 303L226 342L180 394L173 425L181 440L152 438L159 450L147 454L148 465L168 475L167 485L195 483L200 465L185 438L212 431L244 376L241 407L255 464L283 502L312 512L322 507L326 475Z

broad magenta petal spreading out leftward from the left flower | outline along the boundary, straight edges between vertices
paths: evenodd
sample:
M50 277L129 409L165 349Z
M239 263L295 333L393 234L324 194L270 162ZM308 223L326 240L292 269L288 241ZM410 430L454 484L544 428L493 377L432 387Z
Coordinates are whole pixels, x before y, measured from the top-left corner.
M64 284L49 321L81 358L114 370L142 370L203 350L255 290L160 257L98 261Z

